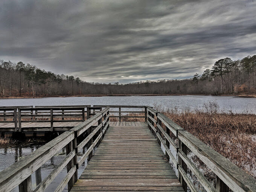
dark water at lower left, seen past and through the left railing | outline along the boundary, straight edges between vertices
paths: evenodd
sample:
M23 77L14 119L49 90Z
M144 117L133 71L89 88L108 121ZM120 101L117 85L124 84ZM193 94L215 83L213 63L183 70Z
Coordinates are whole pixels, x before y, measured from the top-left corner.
M45 143L47 143L46 140L39 140L39 139L32 139L29 141L18 143L15 146L12 147L6 147L6 148L0 148L0 171L3 171L3 169L11 166L18 160L20 160L22 157L30 154L31 152L35 151L39 147L43 146ZM87 147L79 151L78 160L82 154L87 150ZM94 151L96 148L94 148ZM66 157L66 149L62 149L57 152L56 155L54 155L50 160L48 160L44 165L41 166L41 177L42 180L47 177L50 172L58 166L62 160ZM84 164L78 169L78 176L82 174L85 166L87 165L87 159L85 160ZM64 168L59 175L55 178L55 180L52 181L52 183L47 187L46 191L54 191L56 187L59 185L59 183L62 181L62 179L67 174L67 168ZM35 172L32 174L32 186L33 189L36 187L36 178L35 178ZM67 191L67 186L65 187L65 190ZM16 187L12 192L18 192L18 187Z

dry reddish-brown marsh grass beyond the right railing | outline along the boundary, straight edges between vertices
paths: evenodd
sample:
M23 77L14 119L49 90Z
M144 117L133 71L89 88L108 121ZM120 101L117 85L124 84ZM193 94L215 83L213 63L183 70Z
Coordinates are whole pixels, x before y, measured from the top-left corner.
M208 106L208 109L207 109ZM175 123L256 178L256 115L209 110L162 111ZM161 109L160 109L161 110ZM194 158L195 162L196 159ZM198 159L197 159L198 161ZM199 163L201 168L203 163Z

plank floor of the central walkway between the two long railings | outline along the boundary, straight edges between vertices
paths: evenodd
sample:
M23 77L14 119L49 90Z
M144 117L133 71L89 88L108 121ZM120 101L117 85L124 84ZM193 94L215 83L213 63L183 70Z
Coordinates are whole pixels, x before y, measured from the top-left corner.
M111 122L71 191L184 191L146 125Z

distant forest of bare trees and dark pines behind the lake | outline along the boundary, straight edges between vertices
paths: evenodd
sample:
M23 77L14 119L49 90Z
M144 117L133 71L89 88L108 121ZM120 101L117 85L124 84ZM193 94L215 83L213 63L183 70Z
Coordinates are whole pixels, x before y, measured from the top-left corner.
M215 62L191 79L102 84L56 75L36 66L0 60L0 96L73 96L111 94L255 94L256 55Z

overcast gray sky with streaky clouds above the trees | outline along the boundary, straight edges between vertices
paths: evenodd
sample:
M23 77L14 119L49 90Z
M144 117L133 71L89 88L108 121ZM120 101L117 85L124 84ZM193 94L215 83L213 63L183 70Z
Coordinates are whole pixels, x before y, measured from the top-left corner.
M255 0L0 1L0 59L87 82L191 78L255 54Z

